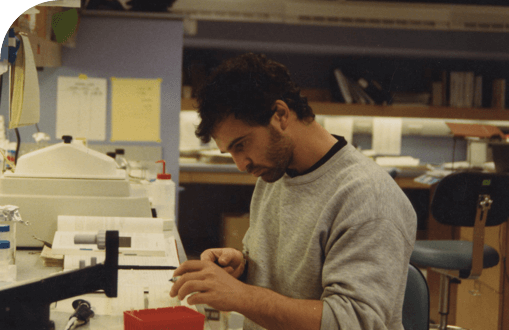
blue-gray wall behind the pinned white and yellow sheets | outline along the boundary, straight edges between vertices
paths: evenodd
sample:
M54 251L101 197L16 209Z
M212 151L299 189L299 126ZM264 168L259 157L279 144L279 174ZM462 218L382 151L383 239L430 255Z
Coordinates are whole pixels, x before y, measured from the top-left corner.
M127 17L81 18L76 48L62 48L62 66L39 71L41 120L39 128L52 141L56 133L57 79L59 76L108 79L106 141L91 144L122 144L161 146L167 172L178 184L179 114L182 75L183 26L179 20ZM6 78L7 75L4 75ZM162 78L161 143L110 142L111 81L109 78ZM8 118L7 79L3 79L3 102L0 115ZM33 126L19 129L22 142L34 142ZM13 132L9 139L15 141Z

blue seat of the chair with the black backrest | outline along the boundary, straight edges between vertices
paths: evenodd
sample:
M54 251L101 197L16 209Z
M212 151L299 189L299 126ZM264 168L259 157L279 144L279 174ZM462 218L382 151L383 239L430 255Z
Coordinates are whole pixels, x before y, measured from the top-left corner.
M410 260L424 267L470 271L472 248L473 242L469 241L417 241ZM484 245L483 253L483 268L494 267L498 264L497 250Z

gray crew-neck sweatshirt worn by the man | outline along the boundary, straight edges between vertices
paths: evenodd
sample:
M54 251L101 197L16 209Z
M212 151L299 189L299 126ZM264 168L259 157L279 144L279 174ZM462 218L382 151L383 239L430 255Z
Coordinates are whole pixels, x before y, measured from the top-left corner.
M417 220L389 174L350 144L311 173L258 180L247 283L321 299L322 330L402 330ZM262 329L249 319L244 330Z

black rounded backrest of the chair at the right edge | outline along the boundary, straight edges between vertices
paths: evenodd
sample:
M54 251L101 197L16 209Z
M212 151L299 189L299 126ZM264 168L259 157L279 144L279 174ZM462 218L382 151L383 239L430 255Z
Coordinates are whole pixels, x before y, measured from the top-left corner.
M498 226L509 218L509 174L456 172L443 178L435 189L431 213L440 223L472 227L479 195L493 200L485 226Z

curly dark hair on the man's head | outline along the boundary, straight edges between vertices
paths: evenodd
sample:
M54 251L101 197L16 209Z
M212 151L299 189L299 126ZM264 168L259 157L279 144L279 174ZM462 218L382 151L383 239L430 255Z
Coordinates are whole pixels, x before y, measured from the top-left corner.
M286 102L300 120L315 117L286 66L263 54L248 53L226 60L211 73L196 96L201 123L195 133L204 143L210 141L216 125L230 114L248 125L268 125L277 100Z

